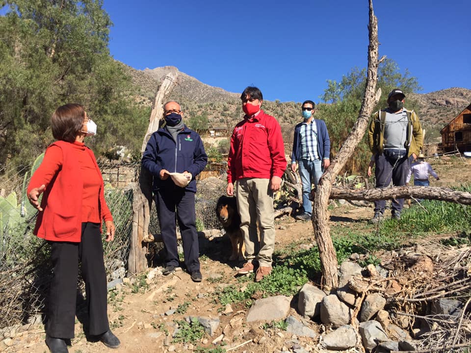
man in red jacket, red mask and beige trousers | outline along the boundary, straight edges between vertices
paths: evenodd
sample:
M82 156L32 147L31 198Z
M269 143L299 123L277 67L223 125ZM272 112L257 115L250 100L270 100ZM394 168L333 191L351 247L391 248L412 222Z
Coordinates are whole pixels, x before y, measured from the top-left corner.
M237 273L253 272L255 260L259 264L255 281L259 282L271 273L275 248L273 192L280 189L286 169L285 147L280 124L260 109L262 92L247 87L240 99L245 116L231 137L227 194L235 194L245 242L247 262Z

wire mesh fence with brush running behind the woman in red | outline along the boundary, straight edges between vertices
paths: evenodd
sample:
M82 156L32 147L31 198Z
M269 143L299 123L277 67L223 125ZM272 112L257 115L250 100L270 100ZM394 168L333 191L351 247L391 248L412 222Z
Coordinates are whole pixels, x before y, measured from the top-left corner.
M41 159L35 162L39 165ZM112 242L103 242L108 282L127 275L132 232L132 183L140 163L110 164L98 161L105 181L105 200L116 225ZM34 164L21 168L0 166L0 328L27 322L43 311L52 277L50 245L32 232L37 211L26 198ZM212 174L210 174L212 175ZM225 193L224 176L199 179L196 194L198 230L220 228L215 205ZM158 234L155 205L151 208L149 231ZM105 238L105 237L104 237ZM148 244L149 263L155 262L161 244ZM154 257L151 258L151 257ZM81 280L79 288L83 288Z

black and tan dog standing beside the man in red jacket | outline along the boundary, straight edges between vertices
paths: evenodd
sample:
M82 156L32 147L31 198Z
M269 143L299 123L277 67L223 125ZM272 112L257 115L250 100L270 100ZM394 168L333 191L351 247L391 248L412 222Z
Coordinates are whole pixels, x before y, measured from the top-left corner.
M229 239L231 239L232 254L229 260L243 260L245 244L240 231L240 216L237 212L235 197L221 196L217 201L216 215Z

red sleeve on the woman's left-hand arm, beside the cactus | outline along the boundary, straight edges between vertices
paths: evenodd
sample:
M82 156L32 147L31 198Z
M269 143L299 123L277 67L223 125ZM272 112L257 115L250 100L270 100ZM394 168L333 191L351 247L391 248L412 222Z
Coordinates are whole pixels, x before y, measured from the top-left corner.
M44 154L43 161L34 172L31 180L29 181L27 193L34 188L39 188L41 185L48 187L52 178L56 175L62 167L62 150L58 146L50 146Z

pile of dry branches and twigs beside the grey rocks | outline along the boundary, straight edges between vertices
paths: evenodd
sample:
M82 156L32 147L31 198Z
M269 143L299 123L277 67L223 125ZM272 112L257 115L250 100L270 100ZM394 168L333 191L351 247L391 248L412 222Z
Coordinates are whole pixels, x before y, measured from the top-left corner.
M381 293L392 321L411 332L423 352L471 346L471 247L432 242L381 258L388 277L370 267L371 276L352 278L350 288L362 298Z

